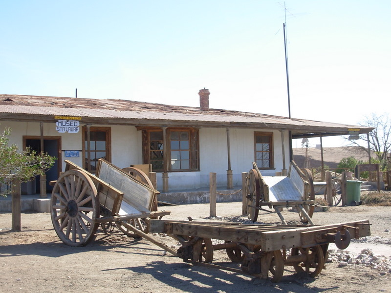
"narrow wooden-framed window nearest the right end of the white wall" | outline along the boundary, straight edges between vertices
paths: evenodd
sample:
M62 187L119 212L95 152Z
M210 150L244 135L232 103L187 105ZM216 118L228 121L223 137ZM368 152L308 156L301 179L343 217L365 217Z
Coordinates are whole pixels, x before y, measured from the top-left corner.
M260 169L274 167L273 159L273 133L254 132L255 162Z

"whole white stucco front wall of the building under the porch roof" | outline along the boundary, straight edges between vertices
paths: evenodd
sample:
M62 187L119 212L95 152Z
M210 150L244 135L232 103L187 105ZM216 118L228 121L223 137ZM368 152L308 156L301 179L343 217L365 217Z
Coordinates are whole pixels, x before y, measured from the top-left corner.
M94 126L94 125L92 125ZM12 129L10 144L16 144L22 149L23 135L40 135L40 123L24 122L0 122L1 131L5 127ZM104 125L102 125L104 127ZM129 167L133 164L142 164L141 131L134 126L110 126L111 127L111 162L117 167ZM279 130L233 128L230 129L231 169L233 170L234 186L241 186L241 173L248 172L254 161L254 132L273 132L274 169L261 170L265 176L275 175L282 171L282 145L281 132ZM289 137L284 131L285 167L289 167ZM59 133L54 123L43 124L44 136L61 136L62 150L82 150L82 132ZM217 173L217 186L227 186L227 130L226 128L201 128L199 130L199 154L200 171L195 172L170 172L169 189L184 190L209 188L209 173ZM83 166L83 154L78 158L65 158L62 152L62 161L68 159L79 166ZM65 169L64 162L62 163ZM157 173L157 188L162 189L162 173Z

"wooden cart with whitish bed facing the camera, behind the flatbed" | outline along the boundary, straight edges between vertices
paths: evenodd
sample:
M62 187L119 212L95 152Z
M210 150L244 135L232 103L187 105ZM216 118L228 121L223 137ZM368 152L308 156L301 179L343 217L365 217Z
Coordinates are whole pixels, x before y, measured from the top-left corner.
M312 173L309 169L301 170L295 162L289 166L288 176L262 176L257 165L248 172L247 215L256 222L262 207L268 206L279 215L282 224L286 224L280 209L296 208L303 223L314 225L311 220L314 212L315 190Z

